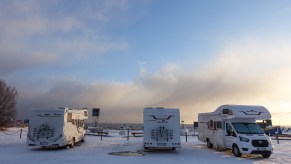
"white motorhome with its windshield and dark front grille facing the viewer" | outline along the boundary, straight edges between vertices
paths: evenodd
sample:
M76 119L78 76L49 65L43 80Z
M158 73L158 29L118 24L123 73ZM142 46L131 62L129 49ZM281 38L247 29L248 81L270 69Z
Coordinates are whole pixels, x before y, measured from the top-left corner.
M234 156L261 154L269 158L273 146L256 120L270 119L263 106L222 105L211 113L198 114L198 139L207 147L231 149Z

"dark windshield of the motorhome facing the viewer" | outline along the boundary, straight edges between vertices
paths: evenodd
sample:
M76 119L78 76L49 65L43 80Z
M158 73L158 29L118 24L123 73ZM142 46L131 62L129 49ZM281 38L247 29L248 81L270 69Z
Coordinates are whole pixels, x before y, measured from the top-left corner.
M256 123L232 123L232 125L241 134L264 134Z

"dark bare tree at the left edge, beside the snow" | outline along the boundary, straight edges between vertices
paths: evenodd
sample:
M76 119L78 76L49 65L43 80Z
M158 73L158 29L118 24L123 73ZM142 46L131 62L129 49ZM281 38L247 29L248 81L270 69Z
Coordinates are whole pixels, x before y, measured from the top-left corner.
M16 115L17 90L0 80L0 128L8 126Z

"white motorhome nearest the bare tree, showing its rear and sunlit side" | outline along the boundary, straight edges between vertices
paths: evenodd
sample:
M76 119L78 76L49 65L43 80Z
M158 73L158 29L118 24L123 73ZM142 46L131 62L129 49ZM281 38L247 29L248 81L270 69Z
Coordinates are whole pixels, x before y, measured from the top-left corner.
M32 110L26 144L40 147L74 147L84 141L87 109Z

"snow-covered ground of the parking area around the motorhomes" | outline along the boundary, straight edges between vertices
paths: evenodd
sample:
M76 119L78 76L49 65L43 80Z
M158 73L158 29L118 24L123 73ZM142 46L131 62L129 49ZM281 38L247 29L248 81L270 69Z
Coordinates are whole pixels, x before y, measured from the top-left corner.
M265 159L260 155L244 155L236 158L230 150L217 151L208 149L205 143L197 137L182 136L182 148L176 151L144 152L142 137L130 137L129 141L120 136L118 131L110 131L110 137L86 136L86 140L79 146L71 149L39 149L25 145L26 131L23 129L22 138L19 138L19 129L11 128L4 134L0 132L0 163L1 164L174 164L174 163L291 163L291 140L273 141L274 154ZM15 134L13 134L15 133ZM8 135L12 134L12 135ZM142 151L142 156L116 156L111 152Z

